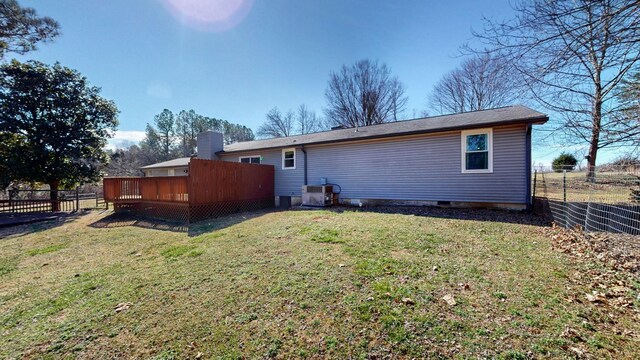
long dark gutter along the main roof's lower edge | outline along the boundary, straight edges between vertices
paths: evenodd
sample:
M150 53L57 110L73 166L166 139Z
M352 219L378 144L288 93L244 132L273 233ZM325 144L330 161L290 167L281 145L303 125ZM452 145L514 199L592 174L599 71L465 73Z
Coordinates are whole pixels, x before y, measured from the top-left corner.
M408 136L408 135L433 134L433 133L441 133L441 132L456 131L456 130L482 129L482 128L486 128L486 127L501 126L501 125L526 124L527 126L531 126L532 124L544 124L547 121L549 121L549 117L548 116L540 116L540 117L534 117L534 118L529 118L529 119L518 119L518 120L515 120L515 121L514 120L511 120L511 121L498 121L498 122L486 123L486 124L482 124L482 125L474 124L474 125L452 126L452 127L448 127L448 128L438 128L438 129L431 129L431 130L415 130L415 131L407 131L407 132L403 132L403 133L378 134L378 135L362 136L362 137L355 137L355 138L344 138L344 139L335 139L335 140L315 141L315 142L308 142L308 143L304 143L304 144L292 143L292 144L282 144L282 145L266 146L266 147L254 147L254 148L241 149L241 150L231 150L231 151L224 151L223 150L223 151L216 152L216 155L218 155L218 154L223 154L223 155L224 154L235 154L235 153L243 153L243 152L247 152L247 151L257 151L257 150L282 149L282 148L304 146L304 145L335 144L335 143L352 142L352 141L360 141L360 140L393 138L393 137L401 137L401 136ZM330 131L336 131L336 130L330 130ZM361 134L361 132L359 132L358 134Z

